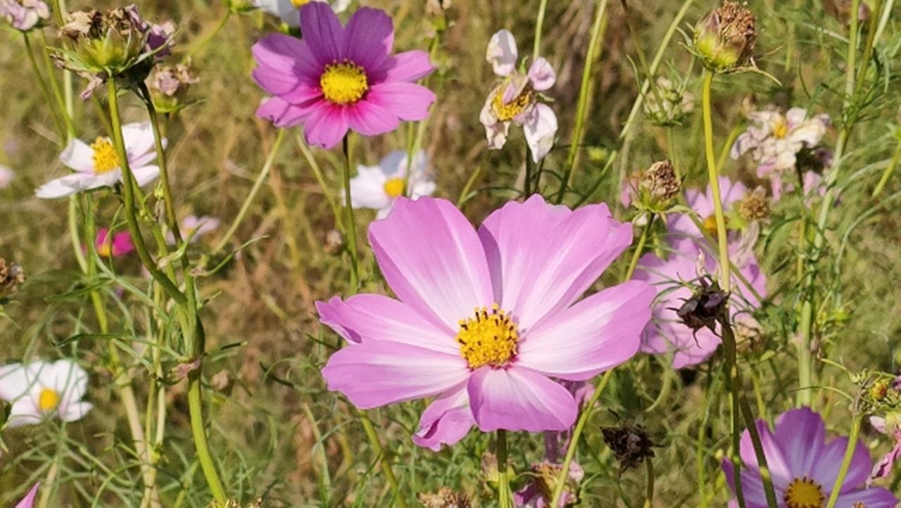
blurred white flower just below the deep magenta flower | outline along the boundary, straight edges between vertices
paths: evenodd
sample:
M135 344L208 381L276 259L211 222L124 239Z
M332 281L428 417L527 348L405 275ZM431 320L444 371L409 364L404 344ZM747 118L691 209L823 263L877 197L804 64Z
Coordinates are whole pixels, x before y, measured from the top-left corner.
M409 196L413 199L432 195L435 183L426 173L427 165L425 152L420 150L413 158L413 171L406 182L405 150L392 151L378 166L358 166L357 176L350 180L350 203L354 208L378 210L378 219L384 219L395 200L405 195L405 185L410 186Z

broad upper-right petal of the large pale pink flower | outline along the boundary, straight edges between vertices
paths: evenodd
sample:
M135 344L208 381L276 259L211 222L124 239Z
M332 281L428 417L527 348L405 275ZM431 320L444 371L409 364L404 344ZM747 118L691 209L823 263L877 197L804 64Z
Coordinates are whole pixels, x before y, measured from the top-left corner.
M534 195L510 202L478 230L501 308L527 331L569 307L632 242L605 204L570 211Z

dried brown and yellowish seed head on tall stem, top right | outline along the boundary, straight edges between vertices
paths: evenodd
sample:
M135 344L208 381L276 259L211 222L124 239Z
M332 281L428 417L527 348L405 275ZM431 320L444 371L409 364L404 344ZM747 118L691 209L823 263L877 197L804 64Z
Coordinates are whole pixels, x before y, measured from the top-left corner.
M726 1L697 23L694 52L704 59L706 68L724 72L752 65L755 41L754 14Z

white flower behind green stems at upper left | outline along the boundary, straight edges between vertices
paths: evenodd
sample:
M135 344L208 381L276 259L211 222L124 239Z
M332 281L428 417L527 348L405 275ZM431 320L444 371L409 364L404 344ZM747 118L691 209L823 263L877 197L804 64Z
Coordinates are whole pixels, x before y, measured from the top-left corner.
M127 123L123 125L122 133L128 165L138 185L146 186L159 177L159 167L150 164L157 158L150 122ZM165 144L165 140L163 142ZM59 154L59 160L76 172L42 185L35 192L38 197L63 197L87 189L113 186L122 181L119 155L109 138L98 137L91 144L80 140L69 141L66 149Z

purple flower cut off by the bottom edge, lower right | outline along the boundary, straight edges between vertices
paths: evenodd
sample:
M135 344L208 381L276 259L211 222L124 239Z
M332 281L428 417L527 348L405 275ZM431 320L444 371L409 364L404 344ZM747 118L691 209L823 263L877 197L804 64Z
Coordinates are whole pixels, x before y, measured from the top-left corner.
M757 422L757 429L772 473L779 508L825 506L842 466L848 438L827 442L823 418L806 407L782 413L775 431L769 431L769 425L763 420ZM742 494L747 508L767 508L748 431L742 434L740 453L747 466L742 469ZM867 447L863 441L858 441L836 508L895 508L898 500L886 489L865 488L872 466ZM723 461L723 471L734 491L733 464L728 459ZM733 502L733 506L738 503Z

